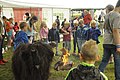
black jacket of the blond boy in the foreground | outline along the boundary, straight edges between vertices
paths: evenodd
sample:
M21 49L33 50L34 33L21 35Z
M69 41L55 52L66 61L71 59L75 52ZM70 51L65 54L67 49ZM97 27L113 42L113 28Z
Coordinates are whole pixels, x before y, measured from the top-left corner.
M94 66L78 65L72 69L65 80L105 80Z

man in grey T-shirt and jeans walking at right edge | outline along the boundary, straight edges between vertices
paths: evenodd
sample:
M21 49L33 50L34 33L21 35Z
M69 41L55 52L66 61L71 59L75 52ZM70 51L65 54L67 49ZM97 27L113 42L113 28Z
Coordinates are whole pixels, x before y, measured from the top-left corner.
M108 9L108 8L107 8ZM120 0L113 12L107 14L104 34L104 54L99 66L100 71L104 71L111 54L113 53L115 62L115 80L120 80Z

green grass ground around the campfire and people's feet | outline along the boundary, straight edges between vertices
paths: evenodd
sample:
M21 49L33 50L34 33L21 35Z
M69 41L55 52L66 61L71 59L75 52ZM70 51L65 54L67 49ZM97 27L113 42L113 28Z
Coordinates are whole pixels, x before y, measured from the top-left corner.
M99 53L102 57L103 54L103 48L102 48L102 42L103 39L100 37L101 43L99 44ZM59 44L59 48L62 47L62 42ZM72 49L71 53L73 51L73 44L72 44ZM5 65L0 65L0 80L14 80L13 74L12 74L12 69L11 69L11 58L12 58L12 49L9 49L7 53L4 53L4 58L8 59L9 62L6 63ZM58 61L59 56L55 56L53 59L53 62L51 64L51 69L50 69L50 75L49 75L49 80L64 80L66 77L68 71L55 71L53 69L54 64ZM77 66L80 63L80 60L78 57L70 56L69 58L74 62L74 66ZM96 67L98 67L100 64L99 62L96 62ZM108 64L105 70L105 75L109 78L109 80L114 80L114 64Z

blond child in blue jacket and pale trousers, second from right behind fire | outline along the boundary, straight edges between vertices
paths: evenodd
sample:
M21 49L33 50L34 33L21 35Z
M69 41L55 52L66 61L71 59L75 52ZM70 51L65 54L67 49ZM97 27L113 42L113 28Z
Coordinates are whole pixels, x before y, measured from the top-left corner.
M80 19L79 20L79 27L77 28L76 31L76 37L77 37L77 44L78 44L78 53L80 53L81 47L86 41L86 31L87 31L87 26L84 25L84 20Z

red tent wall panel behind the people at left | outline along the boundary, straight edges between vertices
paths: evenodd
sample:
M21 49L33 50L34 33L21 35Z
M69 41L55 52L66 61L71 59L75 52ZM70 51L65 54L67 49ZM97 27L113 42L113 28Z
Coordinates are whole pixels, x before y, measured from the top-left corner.
M26 12L33 13L36 16L39 16L39 19L42 19L42 8L13 8L15 22L23 20L23 16Z

